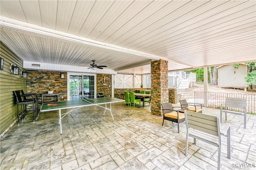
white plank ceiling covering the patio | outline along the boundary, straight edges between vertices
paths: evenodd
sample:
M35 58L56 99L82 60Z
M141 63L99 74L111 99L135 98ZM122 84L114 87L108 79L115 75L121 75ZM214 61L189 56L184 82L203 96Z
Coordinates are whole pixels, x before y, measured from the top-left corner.
M1 41L28 62L150 73L256 61L255 0L1 0Z

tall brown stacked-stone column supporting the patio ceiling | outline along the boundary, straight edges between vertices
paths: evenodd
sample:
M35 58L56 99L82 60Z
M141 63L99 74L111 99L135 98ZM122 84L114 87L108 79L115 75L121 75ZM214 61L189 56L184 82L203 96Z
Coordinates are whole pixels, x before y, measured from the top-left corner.
M168 61L151 62L151 113L162 116L161 103L169 102Z

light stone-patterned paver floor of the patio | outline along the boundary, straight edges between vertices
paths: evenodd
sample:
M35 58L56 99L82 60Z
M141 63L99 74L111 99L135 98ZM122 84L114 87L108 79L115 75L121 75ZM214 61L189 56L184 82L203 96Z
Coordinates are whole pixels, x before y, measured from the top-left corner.
M152 115L149 107L112 104L109 112L82 107L62 119L58 112L41 112L33 122L28 115L0 139L1 170L211 170L217 169L218 148L189 138L184 155L186 126ZM220 110L203 108L204 114L219 116ZM221 169L255 169L256 115L228 114L231 123L231 159L223 137ZM222 128L226 121L222 120ZM254 166L254 167L253 167Z

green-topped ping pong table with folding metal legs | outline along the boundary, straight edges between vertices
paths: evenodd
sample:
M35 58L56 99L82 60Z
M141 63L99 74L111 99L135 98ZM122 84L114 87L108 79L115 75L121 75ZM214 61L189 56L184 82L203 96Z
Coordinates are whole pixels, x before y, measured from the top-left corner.
M62 135L62 124L61 119L65 117L68 113L79 109L85 106L99 106L105 108L103 115L105 115L106 110L109 110L114 121L114 117L111 111L111 104L116 102L124 102L125 100L118 98L95 98L95 99L83 99L83 100L70 100L70 101L61 101L61 102L49 102L43 103L40 109L41 112L44 111L59 111L59 125L60 125L60 135ZM105 106L100 106L105 104ZM107 107L107 104L110 104L110 107ZM62 109L70 109L66 113L61 113Z

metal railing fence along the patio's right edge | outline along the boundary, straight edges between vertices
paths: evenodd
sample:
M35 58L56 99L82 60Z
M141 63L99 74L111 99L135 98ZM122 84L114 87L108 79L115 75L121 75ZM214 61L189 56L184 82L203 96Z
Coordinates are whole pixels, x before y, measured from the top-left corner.
M201 103L204 107L220 109L221 104L225 104L226 98L242 98L247 100L247 113L256 114L256 95L255 94L235 94L235 93L218 93L218 92L194 92L195 103ZM204 104L206 100L207 106Z

